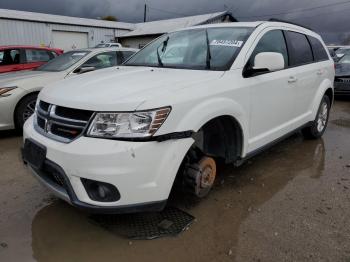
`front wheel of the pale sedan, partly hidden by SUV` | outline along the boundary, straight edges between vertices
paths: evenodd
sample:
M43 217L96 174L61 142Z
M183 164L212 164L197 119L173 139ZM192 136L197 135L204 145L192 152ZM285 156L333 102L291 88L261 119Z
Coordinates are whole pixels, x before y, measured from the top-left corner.
M14 115L14 121L15 127L18 131L22 130L24 122L34 113L37 98L38 94L31 94L24 97L17 104Z

